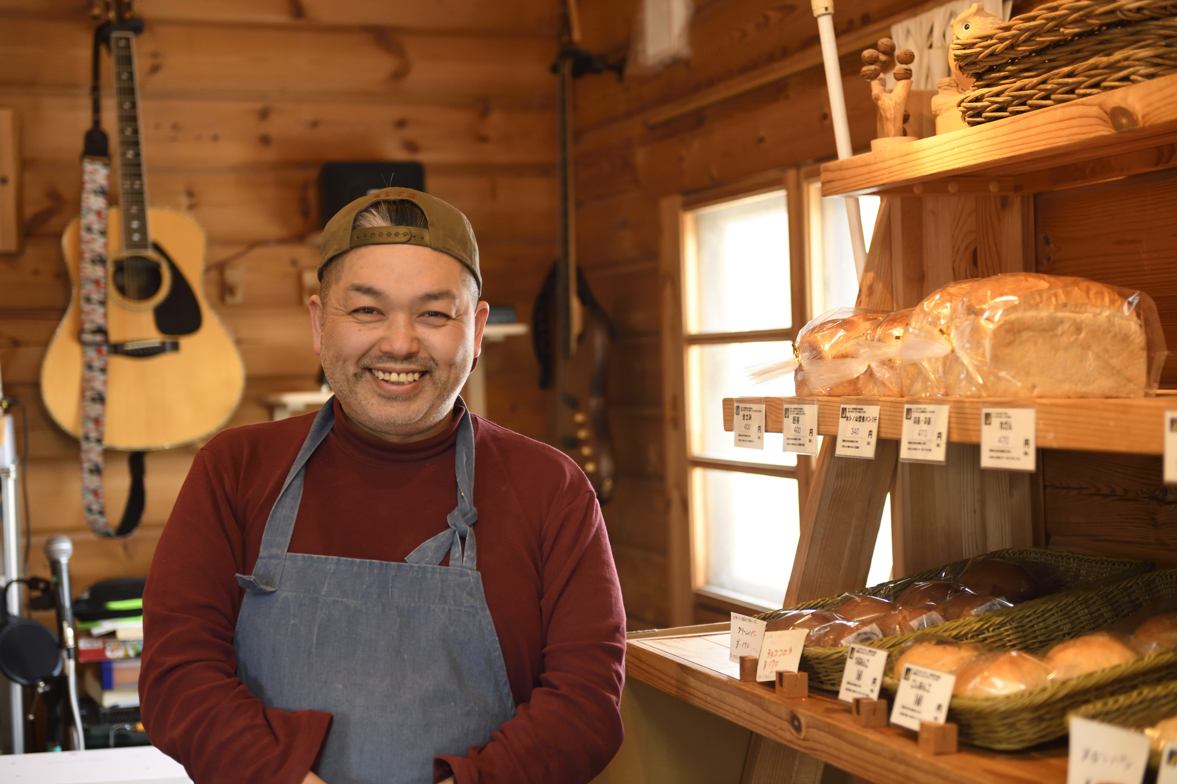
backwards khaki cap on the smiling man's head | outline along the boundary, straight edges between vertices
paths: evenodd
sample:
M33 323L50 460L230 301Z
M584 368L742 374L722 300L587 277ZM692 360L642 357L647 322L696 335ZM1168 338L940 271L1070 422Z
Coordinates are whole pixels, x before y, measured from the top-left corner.
M430 227L378 226L353 229L355 216L378 201L411 201L425 213ZM335 256L363 244L420 244L453 256L474 275L483 292L483 274L478 270L478 242L470 221L454 207L435 196L412 188L383 188L351 202L327 221L319 246L319 280L322 268Z

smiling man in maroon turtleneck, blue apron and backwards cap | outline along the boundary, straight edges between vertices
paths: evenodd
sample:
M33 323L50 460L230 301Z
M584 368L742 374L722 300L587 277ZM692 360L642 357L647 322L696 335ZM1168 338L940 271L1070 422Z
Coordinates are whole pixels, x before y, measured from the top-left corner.
M470 223L365 196L319 280L334 398L204 447L157 548L152 743L197 784L588 782L621 741L620 589L579 468L458 397L488 313Z

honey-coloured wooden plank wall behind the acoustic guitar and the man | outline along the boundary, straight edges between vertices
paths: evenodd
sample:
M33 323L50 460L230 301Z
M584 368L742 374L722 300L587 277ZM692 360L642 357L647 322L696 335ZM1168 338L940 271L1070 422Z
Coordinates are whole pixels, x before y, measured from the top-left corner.
M47 574L47 536L69 534L79 587L146 574L193 455L148 455L141 530L98 541L82 518L77 442L40 406L41 354L68 300L59 236L78 213L89 125L88 6L0 0L0 106L15 108L24 128L27 235L21 254L0 255L0 368L5 391L32 415L32 570ZM486 297L530 319L557 250L553 2L145 0L140 12L151 203L189 210L207 232L205 288L248 374L231 424L267 418L266 393L314 388L301 272L318 261L322 161L423 161L427 188L474 226ZM109 102L105 125L113 127ZM239 303L224 301L226 270L240 281ZM491 417L543 438L530 341L492 344L484 361ZM643 374L651 371L629 375ZM111 454L108 463L109 507L121 510L125 458Z

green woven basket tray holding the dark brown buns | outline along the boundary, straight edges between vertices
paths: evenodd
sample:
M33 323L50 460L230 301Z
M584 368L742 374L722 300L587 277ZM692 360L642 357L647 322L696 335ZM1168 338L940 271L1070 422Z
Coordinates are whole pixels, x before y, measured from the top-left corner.
M1055 569L1063 579L1064 588L1076 588L1078 585L1089 584L1102 584L1109 581L1123 579L1132 575L1142 575L1150 569L1152 569L1152 563L1149 561L1137 561L1130 558L1100 558L1096 556L1088 555L1076 555L1073 552L1063 552L1060 550L1043 550L1039 548L1013 548L1010 550L998 550L991 554L1000 558L1010 558L1013 561L1023 561L1026 563L1040 563ZM969 564L969 561L958 561L943 568L946 570L949 576L957 577L964 571L964 568ZM880 583L873 588L867 588L863 594L869 594L870 596L879 596L886 599L893 599L899 594L902 594L912 583L932 579L939 575L942 569L930 569L923 571L918 575L912 575L903 579L895 579L889 583ZM812 602L805 602L804 604L798 604L797 610L810 610L810 609L825 609L837 604L840 596L831 596L823 599L814 599ZM956 637L956 634L951 636L957 639L983 639L996 646L1012 648L1017 645L1025 645L1025 639L1032 638L1023 634L1026 631L1032 634L1032 630L1023 630L1020 628L1013 628L1006 624L1003 618L1006 614L1019 610L1025 612L1024 608L1036 608L1036 607L1053 607L1059 602L1065 602L1065 596L1059 594L1053 594L1051 596L1044 596L1040 599L1033 599L1031 602L1025 602L1017 605L1016 608L1009 608L1006 610L996 610L993 612L986 612L982 616L973 616L971 618L960 618L959 621L949 621L938 626L935 630L939 634L943 631L956 632L962 635L971 635L967 637ZM1112 610L1115 611L1115 610ZM765 614L760 617L766 617L771 614ZM1103 616L1100 616L1103 617ZM1099 625L1110 623L1116 617L1108 617L1102 621ZM893 649L899 648L905 644L909 639L915 637L920 632L911 632L906 635L897 635L895 637L884 637L883 639L876 639L871 643L875 648ZM1035 638L1036 639L1036 638ZM1048 641L1049 642L1049 641ZM1046 643L1043 643L1046 644ZM1040 645L1036 645L1040 646ZM802 652L802 670L810 674L810 684L819 689L830 689L837 691L842 685L842 672L846 666L846 654L850 651L849 648L814 648L812 645L806 645L805 650Z

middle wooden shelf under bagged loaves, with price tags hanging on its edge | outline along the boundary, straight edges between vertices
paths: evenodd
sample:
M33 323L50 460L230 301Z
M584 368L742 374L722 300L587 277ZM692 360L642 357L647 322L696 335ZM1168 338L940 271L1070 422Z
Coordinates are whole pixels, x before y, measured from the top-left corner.
M784 397L765 397L765 431L780 433L782 401ZM818 398L818 433L824 436L838 434L838 408L849 398ZM1038 447L1040 449L1077 449L1083 451L1106 451L1133 455L1164 454L1162 427L1165 409L1177 409L1177 396L1161 394L1157 397L1129 400L1064 398L1064 400L1017 400L1000 401L982 397L879 397L852 398L855 402L879 404L879 437L898 440L903 430L904 403L951 406L949 414L949 441L952 443L980 443L980 409L1003 403L1035 403L1038 409ZM733 398L724 398L724 429L732 429Z

